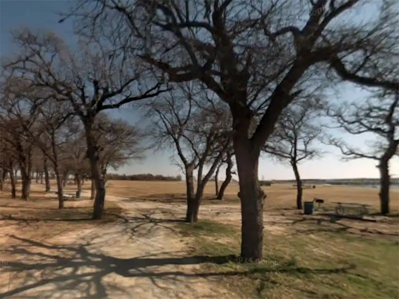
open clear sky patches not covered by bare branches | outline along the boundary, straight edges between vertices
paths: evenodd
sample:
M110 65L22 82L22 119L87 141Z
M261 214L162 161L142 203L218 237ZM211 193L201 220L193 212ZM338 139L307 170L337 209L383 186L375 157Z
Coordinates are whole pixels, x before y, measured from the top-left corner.
M20 26L32 29L43 28L52 30L63 37L68 43L75 42L72 36L70 22L58 23L57 11L65 11L71 1L60 0L0 0L0 54L7 55L13 48L9 40L9 30ZM341 97L362 98L364 94L353 86L343 87ZM338 99L332 98L332 101ZM139 116L131 108L119 111L118 116L130 121ZM351 145L365 148L365 139L352 136L339 136L351 141ZM331 147L323 147L329 153L323 158L305 161L300 164L302 178L352 178L352 177L378 177L376 161L359 159L350 162L340 160L339 151ZM172 151L164 154L148 153L145 161L132 161L130 165L120 168L118 173L154 173L164 175L177 175L180 173L176 166L171 165ZM392 175L399 176L399 158L391 163ZM112 171L111 171L112 172ZM293 179L292 169L287 164L273 162L270 158L263 157L259 164L259 178L264 179Z

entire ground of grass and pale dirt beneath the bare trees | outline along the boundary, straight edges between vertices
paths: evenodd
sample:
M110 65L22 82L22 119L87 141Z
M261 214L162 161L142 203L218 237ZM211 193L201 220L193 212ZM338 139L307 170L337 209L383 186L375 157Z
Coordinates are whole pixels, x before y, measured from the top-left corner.
M218 201L210 182L196 224L178 221L185 215L184 182L108 181L104 219L97 221L90 220L90 183L83 189L83 198L66 201L63 210L41 184L32 185L29 201L10 199L8 186L0 192L0 298L398 298L398 217L366 222L304 216L294 209L295 187L264 187L264 257L257 264L239 263L237 184ZM332 202L379 209L378 189L304 190L304 201L314 197L325 199L327 209ZM399 190L392 190L391 207L399 210ZM159 242L166 252L156 254L156 246L145 244L129 247L129 236L154 234L164 237ZM93 249L97 237L101 246ZM145 255L153 258L140 258ZM98 259L103 262L94 262ZM97 270L85 272L88 267ZM129 275L121 270L126 267L132 268ZM72 276L71 269L86 280ZM71 295L70 289L80 293Z

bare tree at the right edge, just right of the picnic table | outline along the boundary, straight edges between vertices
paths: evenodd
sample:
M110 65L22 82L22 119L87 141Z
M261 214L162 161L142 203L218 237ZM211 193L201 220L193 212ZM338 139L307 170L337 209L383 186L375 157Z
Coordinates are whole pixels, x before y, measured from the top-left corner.
M379 99L370 98L363 103L354 102L345 107L332 108L328 115L333 117L339 128L352 135L374 135L369 150L356 149L342 139L332 138L330 144L338 147L345 159L368 158L378 161L380 169L381 213L390 213L389 162L399 154L399 89L395 92L376 93Z

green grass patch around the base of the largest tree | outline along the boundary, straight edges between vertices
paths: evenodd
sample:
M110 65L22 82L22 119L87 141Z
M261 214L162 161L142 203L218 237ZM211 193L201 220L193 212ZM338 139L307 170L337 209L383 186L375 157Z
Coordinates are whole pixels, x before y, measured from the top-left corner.
M219 273L220 283L243 298L393 299L399 295L399 246L392 241L317 230L265 233L263 259L245 263L237 258L239 229L213 221L178 227L183 236L192 238L193 254L207 256L199 271Z

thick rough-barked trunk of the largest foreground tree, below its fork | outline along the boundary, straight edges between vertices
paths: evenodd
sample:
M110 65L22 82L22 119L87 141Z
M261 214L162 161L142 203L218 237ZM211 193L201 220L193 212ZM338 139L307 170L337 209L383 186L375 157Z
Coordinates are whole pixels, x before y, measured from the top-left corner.
M265 194L258 179L260 149L256 149L248 140L247 130L235 134L233 145L240 187L238 197L241 201L241 257L253 261L262 258L263 244Z

